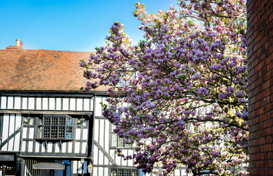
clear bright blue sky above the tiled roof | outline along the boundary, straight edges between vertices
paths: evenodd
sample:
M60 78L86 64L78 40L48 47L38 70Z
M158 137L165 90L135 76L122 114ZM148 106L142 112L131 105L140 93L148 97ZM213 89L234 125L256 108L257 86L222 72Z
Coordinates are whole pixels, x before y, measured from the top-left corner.
M124 32L137 44L144 33L132 15L136 2L144 3L148 13L178 8L176 0L1 1L0 49L14 46L19 38L23 49L95 51L105 45L114 21L124 24Z

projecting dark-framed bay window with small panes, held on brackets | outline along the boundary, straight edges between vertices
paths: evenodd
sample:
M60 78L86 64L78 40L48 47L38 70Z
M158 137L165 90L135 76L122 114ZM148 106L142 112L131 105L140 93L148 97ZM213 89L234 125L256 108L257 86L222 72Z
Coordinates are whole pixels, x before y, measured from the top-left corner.
M45 119L48 120L49 124L45 124ZM63 123L60 124L62 118L65 118ZM54 120L57 119L57 124L53 123ZM70 121L71 120L71 121ZM69 122L69 124L68 124ZM45 130L48 129L48 135L44 134ZM61 133L60 130L63 129ZM39 132L39 130L41 130ZM57 131L56 131L57 130ZM69 130L69 137L67 135ZM61 136L62 135L62 136ZM38 117L38 124L37 124L37 139L44 139L44 140L63 140L63 139L73 139L73 118L66 114L43 114L42 116Z

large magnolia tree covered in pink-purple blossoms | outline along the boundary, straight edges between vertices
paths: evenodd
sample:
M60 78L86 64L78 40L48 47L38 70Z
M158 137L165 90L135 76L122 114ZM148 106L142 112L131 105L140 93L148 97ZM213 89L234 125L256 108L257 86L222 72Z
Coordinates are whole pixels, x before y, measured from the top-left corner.
M137 145L132 155L117 153L159 175L178 166L249 174L245 1L179 1L179 11L156 14L135 6L144 40L132 46L115 22L106 47L80 62L84 77L99 80L82 90L109 86L103 116Z

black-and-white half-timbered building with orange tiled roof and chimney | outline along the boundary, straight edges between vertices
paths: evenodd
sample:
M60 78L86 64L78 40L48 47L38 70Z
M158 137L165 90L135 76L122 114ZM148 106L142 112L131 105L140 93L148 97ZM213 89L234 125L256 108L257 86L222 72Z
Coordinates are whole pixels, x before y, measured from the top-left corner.
M107 87L79 91L87 80L78 62L90 52L23 50L19 42L0 50L0 175L84 176L90 162L94 176L144 175L115 154L134 146L101 115Z

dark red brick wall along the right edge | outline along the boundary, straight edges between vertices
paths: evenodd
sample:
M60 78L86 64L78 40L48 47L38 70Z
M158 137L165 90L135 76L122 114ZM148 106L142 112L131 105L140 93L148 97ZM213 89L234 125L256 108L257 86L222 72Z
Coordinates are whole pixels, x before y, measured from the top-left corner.
M273 0L247 0L251 175L273 175Z

